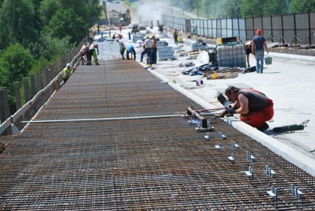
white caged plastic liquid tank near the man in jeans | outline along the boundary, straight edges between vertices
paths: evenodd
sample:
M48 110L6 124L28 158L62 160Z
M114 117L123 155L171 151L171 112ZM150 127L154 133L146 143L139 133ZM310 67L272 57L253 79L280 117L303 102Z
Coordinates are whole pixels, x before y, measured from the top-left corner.
M243 44L217 46L217 61L221 67L246 67Z

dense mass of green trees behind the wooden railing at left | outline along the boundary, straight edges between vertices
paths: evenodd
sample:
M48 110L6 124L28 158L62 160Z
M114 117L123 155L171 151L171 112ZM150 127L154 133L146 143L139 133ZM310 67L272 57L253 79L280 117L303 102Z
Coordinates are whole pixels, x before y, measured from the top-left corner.
M14 82L66 55L99 20L99 0L0 0L0 87L16 111Z

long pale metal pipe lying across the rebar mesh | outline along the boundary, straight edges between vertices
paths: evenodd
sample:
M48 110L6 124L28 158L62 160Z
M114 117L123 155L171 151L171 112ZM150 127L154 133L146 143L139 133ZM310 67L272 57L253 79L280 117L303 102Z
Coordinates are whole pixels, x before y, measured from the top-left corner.
M55 122L99 122L99 121L115 121L115 120L134 120L134 119L158 119L179 117L182 115L159 115L159 116L132 116L132 117L114 117L114 118L96 118L96 119L62 119L62 120L37 120L22 121L23 123L55 123Z

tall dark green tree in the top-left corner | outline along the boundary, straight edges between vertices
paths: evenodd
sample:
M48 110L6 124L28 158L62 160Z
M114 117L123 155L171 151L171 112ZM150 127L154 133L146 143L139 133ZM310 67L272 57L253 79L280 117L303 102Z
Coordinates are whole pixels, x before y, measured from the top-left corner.
M0 48L11 43L28 45L36 40L37 30L34 20L32 0L4 0L0 10Z

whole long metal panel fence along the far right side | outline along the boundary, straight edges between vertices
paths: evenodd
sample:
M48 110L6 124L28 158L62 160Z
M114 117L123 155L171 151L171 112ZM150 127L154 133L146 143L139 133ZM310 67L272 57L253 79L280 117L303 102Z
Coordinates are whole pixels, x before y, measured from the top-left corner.
M315 12L216 20L162 15L162 22L165 26L211 38L238 36L240 40L252 40L256 29L261 28L267 41L315 44Z

